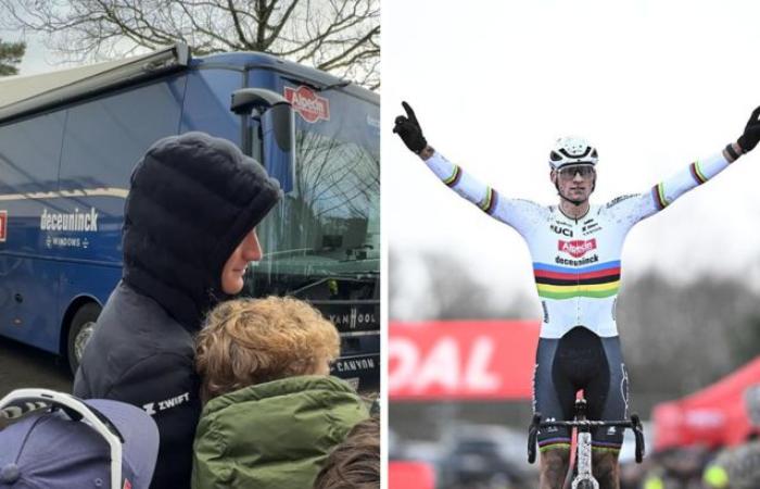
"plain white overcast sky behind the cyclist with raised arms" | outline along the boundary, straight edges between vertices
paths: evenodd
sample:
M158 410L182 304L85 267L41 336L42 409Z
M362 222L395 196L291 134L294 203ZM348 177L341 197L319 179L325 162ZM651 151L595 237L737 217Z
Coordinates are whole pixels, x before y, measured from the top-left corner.
M449 160L542 203L557 201L547 156L560 136L598 148L599 203L720 151L760 104L757 1L382 5L383 233L396 251L451 251L506 292L534 293L527 247L391 134L402 100ZM733 275L760 290L759 225L760 149L634 227L623 275Z

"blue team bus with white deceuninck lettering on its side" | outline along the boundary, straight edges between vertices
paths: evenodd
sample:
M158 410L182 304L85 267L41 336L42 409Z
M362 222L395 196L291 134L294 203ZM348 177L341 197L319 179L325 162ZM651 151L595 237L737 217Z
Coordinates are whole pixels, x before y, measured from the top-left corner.
M294 158L266 103L289 105ZM129 175L156 139L202 130L264 161L284 190L257 227L243 293L290 294L338 326L333 374L379 385L379 96L262 53L187 46L0 82L0 335L76 369L122 275ZM277 126L277 124L275 124Z

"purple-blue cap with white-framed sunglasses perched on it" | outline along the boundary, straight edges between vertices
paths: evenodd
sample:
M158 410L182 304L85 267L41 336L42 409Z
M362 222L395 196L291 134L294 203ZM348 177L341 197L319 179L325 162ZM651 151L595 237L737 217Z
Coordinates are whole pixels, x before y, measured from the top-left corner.
M48 389L0 401L0 488L148 489L159 453L153 419L124 402Z

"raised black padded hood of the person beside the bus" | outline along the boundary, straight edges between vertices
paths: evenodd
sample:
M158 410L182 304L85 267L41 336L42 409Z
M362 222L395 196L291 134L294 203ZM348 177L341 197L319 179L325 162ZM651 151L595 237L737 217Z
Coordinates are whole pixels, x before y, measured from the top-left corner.
M124 211L128 285L191 331L221 292L221 269L281 192L255 160L203 133L160 139L137 163Z

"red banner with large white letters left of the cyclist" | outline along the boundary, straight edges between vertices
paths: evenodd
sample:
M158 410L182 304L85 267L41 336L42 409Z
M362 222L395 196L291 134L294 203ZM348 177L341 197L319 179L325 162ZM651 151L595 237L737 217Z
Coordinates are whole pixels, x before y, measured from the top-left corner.
M531 399L535 321L390 325L391 400Z

